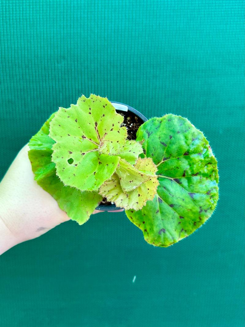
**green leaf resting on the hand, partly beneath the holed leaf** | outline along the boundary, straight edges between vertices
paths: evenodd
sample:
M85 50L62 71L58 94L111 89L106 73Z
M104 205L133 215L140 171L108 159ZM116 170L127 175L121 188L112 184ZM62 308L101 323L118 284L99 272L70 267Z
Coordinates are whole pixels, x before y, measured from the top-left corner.
M94 209L101 202L102 196L96 192L81 192L74 187L65 186L56 175L55 163L51 161L52 146L55 143L49 134L49 124L53 113L40 131L30 142L28 156L37 183L56 199L60 209L76 220L80 225L85 223Z

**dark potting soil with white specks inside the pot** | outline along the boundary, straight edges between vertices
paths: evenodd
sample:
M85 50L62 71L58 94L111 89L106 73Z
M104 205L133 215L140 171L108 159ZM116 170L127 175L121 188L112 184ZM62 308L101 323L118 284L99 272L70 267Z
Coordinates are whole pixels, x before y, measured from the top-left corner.
M136 140L136 133L139 129L139 126L144 123L144 121L136 116L133 112L125 112L117 110L117 113L120 113L124 117L121 127L125 126L127 129L127 139ZM106 198L103 198L100 204L111 205L111 202L106 201Z

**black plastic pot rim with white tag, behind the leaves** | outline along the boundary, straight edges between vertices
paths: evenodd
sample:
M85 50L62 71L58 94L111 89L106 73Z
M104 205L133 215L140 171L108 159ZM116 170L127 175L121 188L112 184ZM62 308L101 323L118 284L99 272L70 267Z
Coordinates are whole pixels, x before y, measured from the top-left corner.
M135 116L138 117L138 122L142 125L144 122L147 121L147 118L142 115L142 113L140 113L139 111L137 111L136 109L121 103L121 102L115 102L115 101L111 101L111 104L113 105L113 107L115 107L116 112L118 113L123 113L124 115L127 114L127 112L129 113L133 113ZM109 204L100 204L96 210L103 210L103 211L112 211L112 210L119 210L122 208L118 208L114 203L109 202Z

